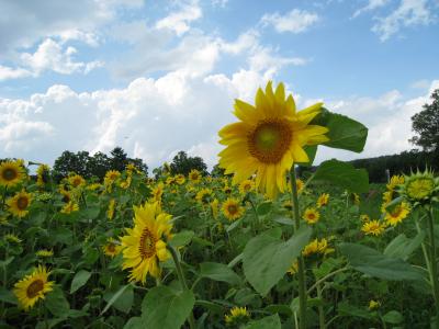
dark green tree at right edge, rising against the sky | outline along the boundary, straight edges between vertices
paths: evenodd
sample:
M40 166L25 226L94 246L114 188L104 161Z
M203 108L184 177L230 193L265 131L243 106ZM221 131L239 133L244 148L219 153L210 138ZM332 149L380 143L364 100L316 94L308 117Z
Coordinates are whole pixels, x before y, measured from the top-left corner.
M418 135L410 139L425 151L439 151L439 89L431 94L431 104L412 116L412 129Z

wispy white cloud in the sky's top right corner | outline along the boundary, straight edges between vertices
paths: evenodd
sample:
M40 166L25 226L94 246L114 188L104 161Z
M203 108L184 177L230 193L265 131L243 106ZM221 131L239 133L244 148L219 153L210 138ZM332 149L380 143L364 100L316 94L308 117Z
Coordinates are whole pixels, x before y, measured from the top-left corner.
M402 0L390 15L376 20L372 31L385 42L402 27L430 24L432 14L427 7L427 0Z

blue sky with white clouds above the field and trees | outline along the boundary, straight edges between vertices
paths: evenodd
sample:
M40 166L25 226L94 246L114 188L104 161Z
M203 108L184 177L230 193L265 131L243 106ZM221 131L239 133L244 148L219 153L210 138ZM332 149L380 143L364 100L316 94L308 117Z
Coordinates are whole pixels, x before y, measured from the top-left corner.
M269 79L370 128L362 155L318 160L394 154L439 88L437 0L23 3L0 0L0 158L122 146L212 166L234 99Z

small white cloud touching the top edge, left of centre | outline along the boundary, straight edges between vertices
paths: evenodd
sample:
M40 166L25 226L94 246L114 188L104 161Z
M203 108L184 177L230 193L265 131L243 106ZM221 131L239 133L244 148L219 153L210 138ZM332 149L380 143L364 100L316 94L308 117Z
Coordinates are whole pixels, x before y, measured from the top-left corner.
M157 29L169 29L182 35L190 30L189 23L200 19L203 12L196 0L189 3L180 3L180 9L156 23Z

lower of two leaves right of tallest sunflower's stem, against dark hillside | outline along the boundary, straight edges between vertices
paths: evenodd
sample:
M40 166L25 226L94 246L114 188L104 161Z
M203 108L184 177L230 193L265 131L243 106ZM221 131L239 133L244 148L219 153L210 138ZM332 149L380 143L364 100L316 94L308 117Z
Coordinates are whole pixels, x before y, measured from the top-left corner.
M365 169L354 169L352 164L336 159L322 162L312 179L329 182L356 193L369 191L369 174Z

